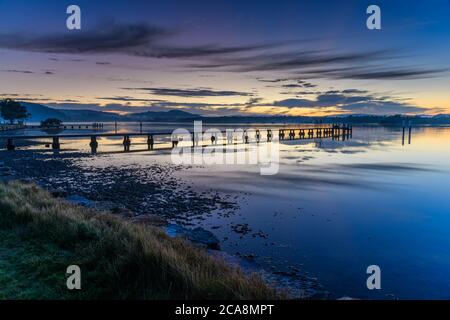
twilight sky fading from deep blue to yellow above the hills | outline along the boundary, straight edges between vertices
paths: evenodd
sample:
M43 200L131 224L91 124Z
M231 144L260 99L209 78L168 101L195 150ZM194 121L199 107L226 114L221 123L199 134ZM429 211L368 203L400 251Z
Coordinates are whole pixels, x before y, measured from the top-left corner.
M369 30L369 5L381 29ZM81 9L68 30L66 9ZM0 0L0 98L118 113L450 113L450 1Z

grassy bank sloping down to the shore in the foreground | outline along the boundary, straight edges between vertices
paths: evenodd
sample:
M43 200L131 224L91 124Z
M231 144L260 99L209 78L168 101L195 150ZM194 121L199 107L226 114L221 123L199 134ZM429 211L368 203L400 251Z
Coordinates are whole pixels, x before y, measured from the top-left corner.
M66 287L79 265L82 289ZM0 183L0 299L273 299L182 239L55 199L35 185Z

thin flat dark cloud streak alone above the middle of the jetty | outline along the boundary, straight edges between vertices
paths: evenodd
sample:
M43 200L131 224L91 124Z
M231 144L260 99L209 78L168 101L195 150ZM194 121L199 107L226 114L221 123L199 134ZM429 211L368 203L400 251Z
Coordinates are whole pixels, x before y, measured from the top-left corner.
M175 88L122 88L124 90L148 91L158 96L175 97L226 97L226 96L252 96L248 92L218 91L209 88L175 89Z

